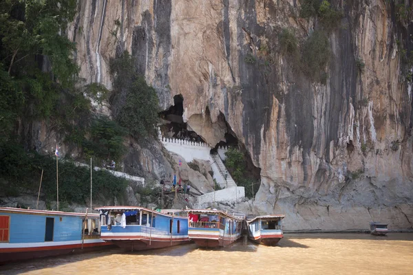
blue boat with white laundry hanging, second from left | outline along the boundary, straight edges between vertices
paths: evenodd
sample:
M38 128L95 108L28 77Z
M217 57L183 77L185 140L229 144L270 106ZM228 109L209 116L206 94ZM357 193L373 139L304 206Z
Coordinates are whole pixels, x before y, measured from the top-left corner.
M100 232L126 250L166 248L188 243L188 217L182 210L154 211L139 206L104 206L100 211Z

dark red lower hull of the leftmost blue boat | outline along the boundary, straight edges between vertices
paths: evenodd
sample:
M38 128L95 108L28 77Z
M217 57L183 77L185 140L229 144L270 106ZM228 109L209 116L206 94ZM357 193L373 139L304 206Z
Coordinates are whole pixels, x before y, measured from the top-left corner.
M67 243L67 242L64 242ZM30 243L26 243L30 245ZM59 256L64 254L72 253L83 253L91 252L96 250L103 250L106 248L114 247L113 243L98 241L92 243L83 243L83 248L81 242L68 243L68 244L57 244L42 245L42 246L23 246L18 245L18 247L13 248L1 248L0 247L0 265L6 263L12 263L15 261L24 261L30 259L39 259L47 256Z

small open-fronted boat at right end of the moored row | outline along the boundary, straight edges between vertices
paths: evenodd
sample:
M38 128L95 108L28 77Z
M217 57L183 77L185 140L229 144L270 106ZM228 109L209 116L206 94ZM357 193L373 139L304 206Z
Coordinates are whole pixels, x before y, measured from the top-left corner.
M247 217L248 238L263 245L276 245L283 237L284 215Z

